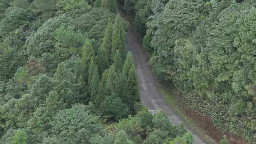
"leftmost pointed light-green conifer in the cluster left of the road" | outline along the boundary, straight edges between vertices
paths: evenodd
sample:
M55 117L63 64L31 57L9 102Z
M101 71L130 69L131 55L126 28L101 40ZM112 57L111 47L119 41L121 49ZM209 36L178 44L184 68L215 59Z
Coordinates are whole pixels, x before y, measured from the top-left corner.
M94 49L91 45L91 42L86 38L83 48L82 48L82 65L83 65L83 78L84 81L88 80L88 72L91 58L95 56Z

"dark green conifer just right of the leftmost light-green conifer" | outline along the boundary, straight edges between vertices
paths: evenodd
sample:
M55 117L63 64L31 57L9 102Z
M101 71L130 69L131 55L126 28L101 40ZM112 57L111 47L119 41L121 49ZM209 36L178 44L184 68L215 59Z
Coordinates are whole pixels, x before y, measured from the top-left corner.
M100 46L98 49L98 55L97 55L97 65L99 68L99 75L102 75L102 73L109 68L109 56L108 51L103 46Z

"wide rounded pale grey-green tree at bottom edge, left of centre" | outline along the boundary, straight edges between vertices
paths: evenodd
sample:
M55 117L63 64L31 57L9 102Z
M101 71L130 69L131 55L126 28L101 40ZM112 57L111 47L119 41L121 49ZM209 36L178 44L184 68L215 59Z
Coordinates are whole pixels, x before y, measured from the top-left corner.
M90 144L92 135L102 130L99 117L91 114L90 106L73 105L61 110L51 122L53 137L61 144Z

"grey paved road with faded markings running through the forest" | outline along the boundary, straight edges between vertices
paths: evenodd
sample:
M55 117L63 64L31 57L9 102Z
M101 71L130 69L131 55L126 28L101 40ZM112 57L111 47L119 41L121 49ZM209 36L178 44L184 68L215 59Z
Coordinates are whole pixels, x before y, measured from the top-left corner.
M168 106L158 86L154 83L155 78L151 67L147 64L146 53L139 40L136 38L131 26L129 27L127 37L128 47L135 57L135 66L140 84L141 102L143 105L147 106L149 110L165 110L172 124L179 125L183 120ZM187 125L185 125L185 128L194 136L194 144L206 144L193 130L189 129Z

